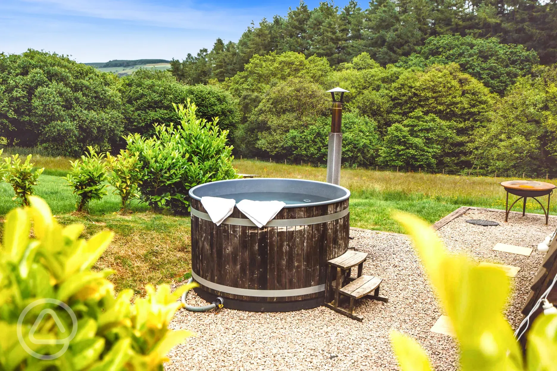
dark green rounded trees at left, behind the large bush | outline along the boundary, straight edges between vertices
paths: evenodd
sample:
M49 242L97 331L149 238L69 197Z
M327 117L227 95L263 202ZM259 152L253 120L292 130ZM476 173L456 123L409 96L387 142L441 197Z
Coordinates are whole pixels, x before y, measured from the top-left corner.
M119 78L47 52L0 54L0 137L7 146L42 147L79 156L125 146L123 135L151 135L155 123L177 122L172 103L190 97L198 116L228 128L238 108L215 86L189 86L169 72L141 70Z

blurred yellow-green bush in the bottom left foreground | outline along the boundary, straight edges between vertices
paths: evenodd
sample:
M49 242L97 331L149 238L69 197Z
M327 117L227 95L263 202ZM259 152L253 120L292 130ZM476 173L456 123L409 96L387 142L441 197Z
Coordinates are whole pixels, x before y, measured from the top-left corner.
M31 196L30 204L4 224L0 369L162 371L168 351L191 334L168 329L190 285L172 294L148 285L130 304L133 290L115 295L106 279L113 271L91 270L114 234L79 239L83 225L62 227L45 201Z

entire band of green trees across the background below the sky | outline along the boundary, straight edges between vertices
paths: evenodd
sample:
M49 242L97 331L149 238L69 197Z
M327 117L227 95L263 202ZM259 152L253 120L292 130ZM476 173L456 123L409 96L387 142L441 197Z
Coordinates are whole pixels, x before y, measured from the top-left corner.
M171 72L122 78L45 52L0 55L0 137L72 156L118 149L123 135L176 123L172 103L189 98L199 117L219 117L236 155L325 162L325 91L341 86L344 164L554 172L554 11L555 1L301 3Z

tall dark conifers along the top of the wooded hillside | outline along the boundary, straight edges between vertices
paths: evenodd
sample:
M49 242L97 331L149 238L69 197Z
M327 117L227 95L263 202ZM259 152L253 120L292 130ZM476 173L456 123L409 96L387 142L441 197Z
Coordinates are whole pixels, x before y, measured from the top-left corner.
M555 63L557 0L377 0L365 9L354 0L343 8L322 2L315 9L302 1L286 17L252 24L238 42L225 44L219 38L211 51L204 48L171 65L178 80L193 84L224 81L243 71L253 56L271 52L325 57L331 66L367 52L386 66L415 52L427 60L437 46L427 40L442 35L495 37L502 44L524 46L524 53L536 51L544 65ZM436 60L432 57L430 62ZM499 86L492 88L501 92Z

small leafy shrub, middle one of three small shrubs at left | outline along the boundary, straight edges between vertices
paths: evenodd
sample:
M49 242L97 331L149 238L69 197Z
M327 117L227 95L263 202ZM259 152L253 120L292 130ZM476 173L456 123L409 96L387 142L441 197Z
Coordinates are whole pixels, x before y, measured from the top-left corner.
M108 171L106 162L103 162L105 154L97 154L93 147L87 147L89 153L81 156L81 161L70 161L72 170L64 179L74 189L77 195L76 209L84 211L91 200L100 200L108 194Z

